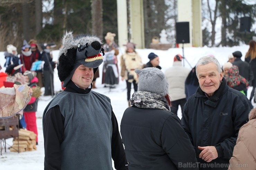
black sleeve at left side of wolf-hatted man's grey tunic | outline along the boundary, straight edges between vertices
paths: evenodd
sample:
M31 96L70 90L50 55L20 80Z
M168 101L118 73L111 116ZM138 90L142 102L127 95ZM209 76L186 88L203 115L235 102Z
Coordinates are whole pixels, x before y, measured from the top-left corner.
M44 169L61 169L61 143L64 136L64 117L60 107L55 106L48 110L44 118Z

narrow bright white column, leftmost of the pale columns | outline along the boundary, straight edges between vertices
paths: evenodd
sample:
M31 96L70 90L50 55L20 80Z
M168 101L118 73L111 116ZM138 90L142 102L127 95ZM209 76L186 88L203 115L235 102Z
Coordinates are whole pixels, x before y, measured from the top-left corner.
M118 46L121 47L128 42L126 0L117 0L117 27Z

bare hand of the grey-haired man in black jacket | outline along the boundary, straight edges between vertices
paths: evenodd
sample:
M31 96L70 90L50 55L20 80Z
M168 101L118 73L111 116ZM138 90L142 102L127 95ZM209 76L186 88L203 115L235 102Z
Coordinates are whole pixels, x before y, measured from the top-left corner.
M211 162L213 159L218 158L218 152L214 146L200 147L198 146L202 152L199 154L199 158L206 162Z

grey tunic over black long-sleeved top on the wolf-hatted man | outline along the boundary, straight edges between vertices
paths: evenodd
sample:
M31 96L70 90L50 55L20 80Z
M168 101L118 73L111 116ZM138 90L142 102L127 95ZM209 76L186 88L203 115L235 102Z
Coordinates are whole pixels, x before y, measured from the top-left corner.
M128 170L117 119L103 94L70 81L46 107L43 132L45 169L110 170L113 159L117 170Z

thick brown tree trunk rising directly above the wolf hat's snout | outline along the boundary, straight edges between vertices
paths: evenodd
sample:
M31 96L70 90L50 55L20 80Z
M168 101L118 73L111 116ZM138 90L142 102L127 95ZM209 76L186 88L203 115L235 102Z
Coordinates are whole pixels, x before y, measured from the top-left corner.
M91 7L92 34L103 39L102 0L93 0Z

